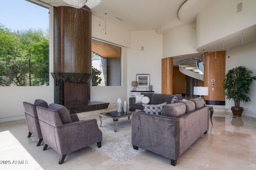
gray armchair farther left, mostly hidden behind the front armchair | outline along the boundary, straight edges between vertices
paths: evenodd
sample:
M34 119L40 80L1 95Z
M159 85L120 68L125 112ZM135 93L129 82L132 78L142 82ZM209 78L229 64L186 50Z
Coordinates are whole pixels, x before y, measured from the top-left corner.
M44 100L36 99L34 104L23 102L26 122L28 126L28 137L35 135L38 138L36 146L40 146L43 140L38 115L36 112L36 106L48 107L47 102Z

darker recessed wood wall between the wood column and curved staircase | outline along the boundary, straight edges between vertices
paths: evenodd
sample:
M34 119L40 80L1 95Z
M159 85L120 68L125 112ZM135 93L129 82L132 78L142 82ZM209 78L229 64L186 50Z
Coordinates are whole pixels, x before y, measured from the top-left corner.
M186 93L186 75L181 73L179 67L173 67L172 92L173 94Z

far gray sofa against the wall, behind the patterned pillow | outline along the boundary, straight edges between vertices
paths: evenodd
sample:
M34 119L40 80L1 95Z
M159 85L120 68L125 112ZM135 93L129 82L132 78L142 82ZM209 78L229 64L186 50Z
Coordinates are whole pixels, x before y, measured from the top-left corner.
M174 96L178 98L178 100L182 99L182 94L157 94L157 93L140 93L141 95L147 96L150 99L148 104L161 104L166 102L170 104ZM136 103L136 98L129 98L129 109L140 109L143 110L142 103Z

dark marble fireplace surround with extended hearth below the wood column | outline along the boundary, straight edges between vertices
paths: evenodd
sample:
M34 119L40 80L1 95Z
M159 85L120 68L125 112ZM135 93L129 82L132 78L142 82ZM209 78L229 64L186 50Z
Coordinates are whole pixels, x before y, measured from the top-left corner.
M90 102L92 74L53 72L54 103L65 106L70 113L80 113L108 108L106 102Z

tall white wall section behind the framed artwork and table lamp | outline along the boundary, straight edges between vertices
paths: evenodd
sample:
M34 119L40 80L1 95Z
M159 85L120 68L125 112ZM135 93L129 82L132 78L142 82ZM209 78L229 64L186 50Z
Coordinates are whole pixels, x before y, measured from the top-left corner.
M144 50L141 50L141 47ZM155 93L161 93L162 34L154 30L132 32L132 48L128 49L127 100L136 74L150 74L150 85ZM137 90L146 90L137 88Z

